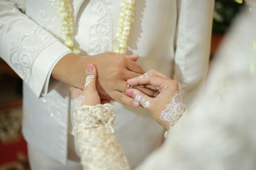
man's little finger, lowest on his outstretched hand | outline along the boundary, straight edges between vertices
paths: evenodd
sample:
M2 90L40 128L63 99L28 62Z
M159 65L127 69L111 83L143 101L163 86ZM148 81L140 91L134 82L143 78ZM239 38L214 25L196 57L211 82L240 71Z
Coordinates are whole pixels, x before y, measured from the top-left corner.
M118 92L116 90L111 92L111 94L109 94L109 96L111 96L112 99L114 101L117 101L118 103L122 103L122 104L125 104L125 105L128 105L128 106L133 106L133 107L140 106L140 103L138 103L138 101L135 101L131 97L128 97L124 93Z

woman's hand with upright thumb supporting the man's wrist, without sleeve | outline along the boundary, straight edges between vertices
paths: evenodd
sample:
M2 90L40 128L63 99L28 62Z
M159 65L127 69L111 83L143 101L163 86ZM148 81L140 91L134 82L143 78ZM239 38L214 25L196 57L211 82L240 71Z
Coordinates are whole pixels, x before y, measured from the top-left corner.
M86 67L86 80L84 84L84 89L79 89L76 87L70 87L71 97L74 101L74 107L77 108L82 105L94 106L100 104L99 93L96 89L96 78L97 71L93 64L89 64ZM102 101L104 103L104 101Z

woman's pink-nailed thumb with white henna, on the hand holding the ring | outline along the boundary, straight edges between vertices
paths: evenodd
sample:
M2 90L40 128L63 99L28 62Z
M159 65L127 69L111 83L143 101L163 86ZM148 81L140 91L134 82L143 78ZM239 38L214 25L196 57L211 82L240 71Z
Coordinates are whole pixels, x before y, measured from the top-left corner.
M143 94L143 92L141 92L140 90L129 89L126 90L125 94L132 97L135 101L138 101L140 105L144 108L148 109L152 106L152 98L147 96L146 94Z

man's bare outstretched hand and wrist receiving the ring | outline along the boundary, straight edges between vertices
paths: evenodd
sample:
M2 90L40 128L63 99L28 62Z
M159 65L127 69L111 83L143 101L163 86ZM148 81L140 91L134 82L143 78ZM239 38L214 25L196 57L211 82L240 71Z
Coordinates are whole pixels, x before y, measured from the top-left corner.
M94 56L79 56L73 53L65 55L54 67L52 76L74 87L83 89L86 66L94 64L97 67L97 90L100 99L113 99L129 106L140 104L126 96L126 80L140 76L144 71L136 64L138 55L121 55L106 52Z

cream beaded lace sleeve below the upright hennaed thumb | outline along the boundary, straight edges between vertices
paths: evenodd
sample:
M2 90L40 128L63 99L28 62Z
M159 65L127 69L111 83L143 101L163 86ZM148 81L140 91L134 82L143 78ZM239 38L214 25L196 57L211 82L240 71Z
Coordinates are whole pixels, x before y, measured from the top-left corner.
M83 169L130 169L112 128L113 106L81 106L74 112L73 133Z

